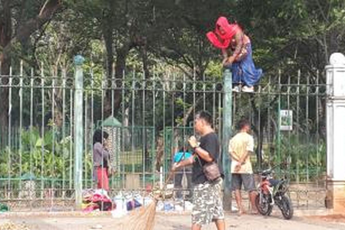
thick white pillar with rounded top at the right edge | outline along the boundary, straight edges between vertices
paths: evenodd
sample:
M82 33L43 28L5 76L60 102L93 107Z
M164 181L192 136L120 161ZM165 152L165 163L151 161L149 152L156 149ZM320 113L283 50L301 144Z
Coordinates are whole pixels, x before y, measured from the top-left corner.
M327 195L326 207L345 211L345 57L333 53L327 78Z

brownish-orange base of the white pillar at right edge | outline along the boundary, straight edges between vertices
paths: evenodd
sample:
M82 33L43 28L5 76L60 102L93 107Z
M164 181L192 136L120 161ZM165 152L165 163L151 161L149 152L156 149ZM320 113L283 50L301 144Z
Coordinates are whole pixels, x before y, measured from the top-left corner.
M334 212L345 211L345 181L327 181L326 207Z

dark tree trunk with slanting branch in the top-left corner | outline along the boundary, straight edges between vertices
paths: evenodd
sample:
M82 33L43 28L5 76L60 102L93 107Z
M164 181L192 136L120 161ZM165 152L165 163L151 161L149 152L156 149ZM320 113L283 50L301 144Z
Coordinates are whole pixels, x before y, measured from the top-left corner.
M24 4L23 1L0 1L0 53L1 74L8 75L11 65L11 54L13 45L17 42L28 40L32 33L45 25L52 16L62 7L60 0L30 1ZM27 11L28 10L28 11ZM35 14L32 13L36 12ZM24 17L23 17L24 16ZM26 16L26 17L25 17ZM25 19L25 20L24 20ZM13 23L16 21L16 24ZM13 28L13 24L15 25ZM12 31L15 31L12 34ZM2 77L2 84L9 83L8 77ZM7 87L2 87L0 92L1 110L0 125L2 127L8 124L8 94Z

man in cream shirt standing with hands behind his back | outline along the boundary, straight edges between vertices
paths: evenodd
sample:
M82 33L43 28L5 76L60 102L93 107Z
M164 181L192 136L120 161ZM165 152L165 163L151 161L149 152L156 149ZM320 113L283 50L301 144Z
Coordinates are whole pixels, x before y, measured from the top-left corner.
M235 191L235 198L239 214L245 213L242 206L241 187L249 192L253 213L257 213L255 206L256 187L250 163L250 154L254 152L254 138L249 134L250 123L246 119L238 122L239 132L229 141L231 157L231 187Z

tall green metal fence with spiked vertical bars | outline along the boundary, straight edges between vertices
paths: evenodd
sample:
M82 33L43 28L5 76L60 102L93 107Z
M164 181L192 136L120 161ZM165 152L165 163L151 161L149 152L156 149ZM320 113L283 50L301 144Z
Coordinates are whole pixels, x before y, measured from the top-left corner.
M12 209L73 207L75 193L75 78L61 70L54 76L13 69L0 76L9 89L8 123L0 128L0 202ZM222 145L224 80L195 72L142 72L122 76L83 73L82 188L95 187L92 135L96 128L110 132L110 194L144 191L159 186L171 167L174 152L193 130L194 113L206 109ZM9 79L8 83L3 83ZM256 170L286 162L277 176L290 179L291 196L299 207L322 207L325 191L326 142L324 75L264 76L255 93L233 93L231 133L243 116L253 124ZM227 108L228 109L228 108ZM117 126L104 126L116 118ZM98 122L99 121L99 122ZM222 146L220 146L221 148ZM226 154L222 152L222 154ZM160 169L162 167L162 170ZM317 194L317 196L316 196ZM20 202L19 202L20 201Z

